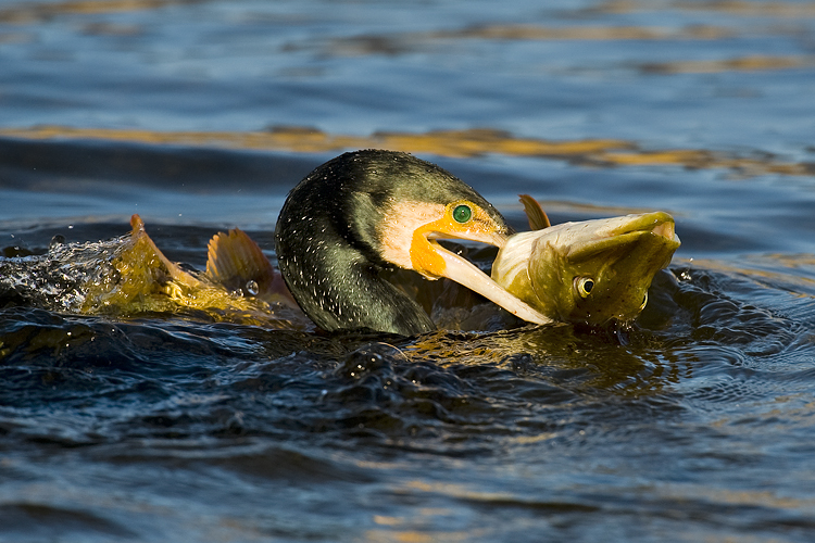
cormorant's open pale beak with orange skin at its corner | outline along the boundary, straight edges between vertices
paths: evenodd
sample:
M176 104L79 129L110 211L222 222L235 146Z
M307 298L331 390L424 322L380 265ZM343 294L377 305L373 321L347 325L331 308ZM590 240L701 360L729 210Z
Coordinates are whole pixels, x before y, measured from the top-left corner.
M413 269L429 279L447 277L448 279L481 294L487 300L494 302L518 318L529 323L544 325L553 321L551 318L509 293L503 287L493 281L491 277L478 269L473 263L441 247L436 241L438 238L466 239L500 248L506 243L506 233L490 228L453 231L448 228L431 230L425 228L417 229L414 232L413 243L411 244Z

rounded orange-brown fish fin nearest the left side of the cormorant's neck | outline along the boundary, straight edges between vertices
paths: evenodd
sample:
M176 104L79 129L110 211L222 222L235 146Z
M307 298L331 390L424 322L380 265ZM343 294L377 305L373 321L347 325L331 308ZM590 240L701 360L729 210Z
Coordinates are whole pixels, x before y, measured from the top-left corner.
M218 232L208 245L206 277L228 286L239 281L258 281L274 275L272 263L258 243L238 228Z

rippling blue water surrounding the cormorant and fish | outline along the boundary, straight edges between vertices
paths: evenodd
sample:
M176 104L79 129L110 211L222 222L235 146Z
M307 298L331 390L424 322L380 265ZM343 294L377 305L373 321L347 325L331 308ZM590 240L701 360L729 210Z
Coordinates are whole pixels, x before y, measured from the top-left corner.
M812 541L814 30L793 1L0 2L7 254L138 213L171 260L234 226L274 260L288 190L362 147L517 228L527 192L682 239L622 337L5 307L0 541Z

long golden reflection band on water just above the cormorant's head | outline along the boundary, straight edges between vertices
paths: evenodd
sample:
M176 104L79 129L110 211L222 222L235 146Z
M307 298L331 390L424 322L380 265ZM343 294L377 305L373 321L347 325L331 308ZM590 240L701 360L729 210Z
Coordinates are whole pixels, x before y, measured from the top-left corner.
M507 132L481 128L437 130L425 134L375 132L371 136L352 136L327 134L305 127L277 127L269 131L230 132L39 126L0 128L0 137L35 140L91 139L300 153L377 148L451 157L474 157L486 154L537 156L567 160L599 167L676 165L694 169L725 168L741 176L815 174L813 164L782 162L765 154L751 157L704 149L644 150L635 142L618 139L551 141L519 138Z

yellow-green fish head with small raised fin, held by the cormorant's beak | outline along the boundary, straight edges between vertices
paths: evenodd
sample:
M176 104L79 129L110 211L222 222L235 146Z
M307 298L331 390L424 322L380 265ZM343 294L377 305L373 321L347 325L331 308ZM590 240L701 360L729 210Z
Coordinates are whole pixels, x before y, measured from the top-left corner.
M552 226L535 199L521 201L531 230L509 238L491 276L552 321L630 325L681 243L665 212Z

